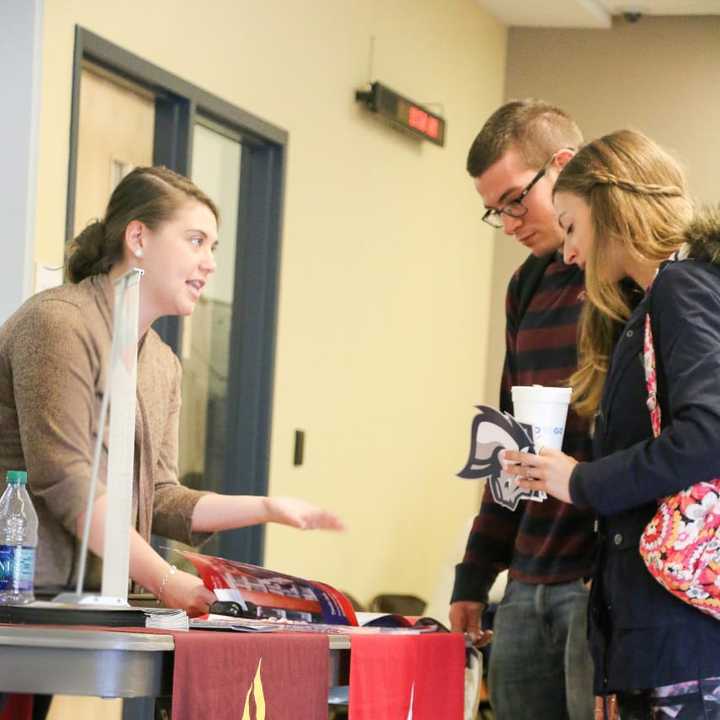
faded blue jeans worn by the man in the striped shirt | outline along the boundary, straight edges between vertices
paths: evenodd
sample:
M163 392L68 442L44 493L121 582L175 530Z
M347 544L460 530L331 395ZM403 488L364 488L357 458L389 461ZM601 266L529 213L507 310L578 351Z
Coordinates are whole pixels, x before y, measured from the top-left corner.
M496 720L592 720L588 590L510 580L495 614L488 684Z

